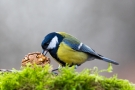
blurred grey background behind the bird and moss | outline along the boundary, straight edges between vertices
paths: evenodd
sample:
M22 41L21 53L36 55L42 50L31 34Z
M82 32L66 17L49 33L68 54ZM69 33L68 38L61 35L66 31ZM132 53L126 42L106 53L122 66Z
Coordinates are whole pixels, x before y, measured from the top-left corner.
M0 0L0 68L19 69L24 55L41 51L44 36L54 31L118 61L113 74L135 83L135 0ZM94 66L108 63L86 62L78 71Z

